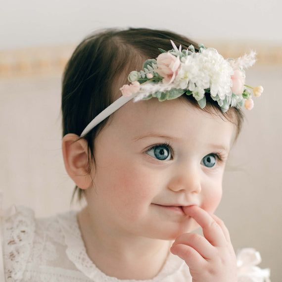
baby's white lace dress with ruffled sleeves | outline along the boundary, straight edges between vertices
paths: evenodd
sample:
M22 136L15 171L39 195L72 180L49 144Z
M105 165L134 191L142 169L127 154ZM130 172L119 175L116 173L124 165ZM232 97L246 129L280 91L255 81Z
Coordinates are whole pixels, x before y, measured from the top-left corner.
M109 277L97 269L86 253L77 212L35 219L26 207L2 213L3 277L6 282L135 282ZM238 254L239 282L268 282L269 270L255 265L259 253L242 249ZM1 263L1 260L0 260ZM161 272L146 282L191 282L188 266L169 255Z

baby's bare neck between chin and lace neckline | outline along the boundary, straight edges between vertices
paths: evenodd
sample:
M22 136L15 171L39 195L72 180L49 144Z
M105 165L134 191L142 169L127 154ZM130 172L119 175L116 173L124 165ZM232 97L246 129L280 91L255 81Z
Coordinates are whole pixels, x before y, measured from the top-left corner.
M78 223L89 258L108 276L152 279L168 256L170 241L110 232L95 222L87 208L78 214Z

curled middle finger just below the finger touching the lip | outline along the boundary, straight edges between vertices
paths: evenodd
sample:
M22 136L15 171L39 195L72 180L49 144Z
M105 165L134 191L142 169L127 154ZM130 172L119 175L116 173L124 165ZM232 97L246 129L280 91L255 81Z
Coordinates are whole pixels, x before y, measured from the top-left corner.
M214 254L214 246L204 238L196 233L185 233L176 238L172 246L177 244L184 244L196 250L204 259L210 259Z

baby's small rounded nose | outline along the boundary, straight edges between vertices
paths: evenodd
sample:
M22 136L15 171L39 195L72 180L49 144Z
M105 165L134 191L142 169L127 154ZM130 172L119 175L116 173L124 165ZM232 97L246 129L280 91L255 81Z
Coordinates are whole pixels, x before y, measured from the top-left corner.
M201 192L200 169L197 165L182 164L175 167L168 188L172 191Z

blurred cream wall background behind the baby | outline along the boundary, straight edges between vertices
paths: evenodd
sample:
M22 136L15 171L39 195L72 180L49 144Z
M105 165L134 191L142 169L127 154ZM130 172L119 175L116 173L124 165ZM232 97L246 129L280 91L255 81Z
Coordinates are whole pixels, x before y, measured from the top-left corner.
M61 74L74 47L107 27L168 29L226 58L251 48L247 84L263 85L230 156L216 212L235 249L253 247L282 280L282 1L11 0L0 5L0 179L3 207L36 216L68 209L74 184L61 156ZM83 203L82 203L83 204Z

